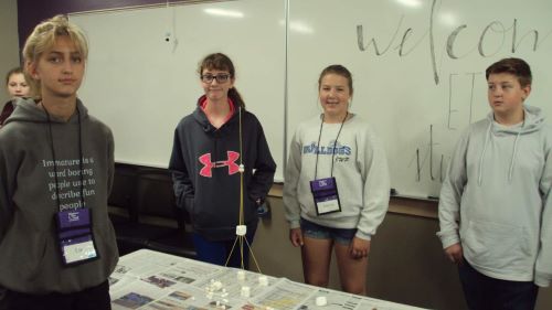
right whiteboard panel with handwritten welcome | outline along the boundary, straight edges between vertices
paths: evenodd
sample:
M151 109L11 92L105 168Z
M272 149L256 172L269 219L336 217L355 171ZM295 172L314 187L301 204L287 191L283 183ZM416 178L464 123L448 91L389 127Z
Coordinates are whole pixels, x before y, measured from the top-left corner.
M342 64L353 74L351 110L383 140L392 188L436 196L459 133L490 110L491 63L524 58L533 72L526 103L552 121L551 17L550 0L290 1L289 127L321 111L318 76Z

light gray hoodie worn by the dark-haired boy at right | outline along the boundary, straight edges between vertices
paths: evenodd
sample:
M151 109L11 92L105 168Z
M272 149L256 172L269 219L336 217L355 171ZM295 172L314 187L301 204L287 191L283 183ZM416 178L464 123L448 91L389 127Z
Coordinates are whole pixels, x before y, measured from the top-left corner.
M460 243L479 272L502 280L552 279L552 128L524 106L524 121L486 119L461 136L439 200L446 248Z

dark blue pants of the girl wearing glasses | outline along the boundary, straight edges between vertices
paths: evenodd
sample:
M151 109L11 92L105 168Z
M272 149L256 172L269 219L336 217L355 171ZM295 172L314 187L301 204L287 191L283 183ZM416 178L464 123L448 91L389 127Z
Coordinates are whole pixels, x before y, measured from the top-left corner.
M256 226L250 227L247 226L247 233L245 238L250 246L253 246L253 237L255 236ZM237 236L236 236L237 237ZM243 267L247 269L250 266L250 247L245 243L245 239L242 239L243 245ZM227 267L242 268L242 255L240 250L240 239L235 242L233 240L224 240L224 242L211 242L205 239L199 234L193 234L193 246L195 247L195 252L198 253L198 259L205 263L211 263L215 265L224 266L229 256L230 257ZM235 245L234 245L235 243ZM234 249L232 249L234 247Z

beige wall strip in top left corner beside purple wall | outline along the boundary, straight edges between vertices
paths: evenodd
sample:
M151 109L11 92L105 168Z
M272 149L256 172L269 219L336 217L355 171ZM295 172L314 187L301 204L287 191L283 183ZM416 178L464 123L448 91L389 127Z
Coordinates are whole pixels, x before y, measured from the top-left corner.
M18 35L18 1L0 1L0 76L2 78L2 90L0 90L0 108L8 101L6 92L6 74L9 70L19 65L19 35Z

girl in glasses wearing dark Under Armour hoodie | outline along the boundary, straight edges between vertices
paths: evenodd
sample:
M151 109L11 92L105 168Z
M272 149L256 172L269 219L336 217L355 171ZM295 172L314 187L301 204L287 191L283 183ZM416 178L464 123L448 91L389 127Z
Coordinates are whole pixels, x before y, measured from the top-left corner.
M246 226L252 245L276 163L261 122L234 86L232 61L210 54L198 75L204 94L178 124L169 163L177 203L191 215L200 260L247 268L250 249L243 239L235 244L236 225Z

